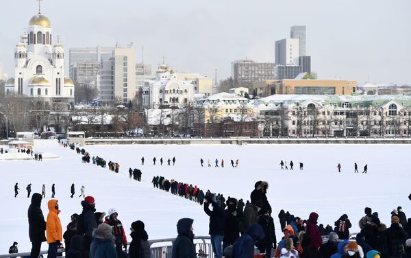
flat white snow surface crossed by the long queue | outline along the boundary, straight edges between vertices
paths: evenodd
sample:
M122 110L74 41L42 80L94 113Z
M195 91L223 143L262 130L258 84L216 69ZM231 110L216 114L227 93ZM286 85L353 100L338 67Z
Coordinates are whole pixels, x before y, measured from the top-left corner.
M129 225L135 220L145 222L150 239L175 237L175 225L179 218L193 218L195 235L208 235L208 216L203 207L184 198L153 189L151 179L162 175L223 193L225 198L249 199L249 193L258 180L269 182L267 196L273 207L277 239L281 237L277 214L280 209L290 211L301 218L308 218L312 211L319 213L319 223L334 224L340 215L347 213L353 228L358 231L358 220L364 207L379 213L385 224L390 224L390 211L402 206L411 215L409 159L411 145L93 145L84 148L90 154L102 156L107 162L119 162L120 173L114 174L92 164L84 164L81 155L69 148L58 147L50 140L36 141L36 150L60 156L59 159L39 161L0 161L0 253L7 253L12 242L18 242L18 250L30 250L28 236L27 198L25 187L32 183L32 193L47 187L47 198L42 210L47 218L47 202L51 196L51 184L55 183L63 230L70 215L80 213L79 188L86 187L86 196L95 197L97 211L119 211L129 237ZM0 154L1 155L1 154ZM145 156L145 165L140 159ZM157 157L158 165L151 160ZM173 156L175 166L160 166L160 157ZM205 167L199 159L203 158ZM223 158L226 167L214 168L214 160ZM213 167L207 167L210 159ZM240 160L238 168L229 167L229 159ZM280 170L280 160L292 160L295 170ZM353 173L356 161L360 174ZM298 163L304 163L304 170ZM341 163L342 172L336 165ZM365 163L368 174L362 174ZM142 182L130 180L129 167L142 170ZM14 198L14 184L20 193ZM75 183L75 198L70 198L70 186ZM47 249L47 244L42 244Z

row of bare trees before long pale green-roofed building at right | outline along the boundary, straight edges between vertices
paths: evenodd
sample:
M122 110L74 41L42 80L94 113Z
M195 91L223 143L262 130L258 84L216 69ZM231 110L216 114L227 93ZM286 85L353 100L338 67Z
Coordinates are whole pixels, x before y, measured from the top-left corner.
M290 123L295 123L295 134L299 137L411 136L411 107L393 114L384 111L382 106L336 110L309 105L294 110L279 108L271 112L260 116L264 136L289 136Z

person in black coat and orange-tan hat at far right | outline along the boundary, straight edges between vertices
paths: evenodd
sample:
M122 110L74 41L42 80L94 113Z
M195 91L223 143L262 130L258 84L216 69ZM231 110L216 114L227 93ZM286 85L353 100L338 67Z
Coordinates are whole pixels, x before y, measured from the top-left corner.
M402 257L404 253L403 244L406 242L408 235L399 225L399 218L391 218L391 226L386 230L388 257Z

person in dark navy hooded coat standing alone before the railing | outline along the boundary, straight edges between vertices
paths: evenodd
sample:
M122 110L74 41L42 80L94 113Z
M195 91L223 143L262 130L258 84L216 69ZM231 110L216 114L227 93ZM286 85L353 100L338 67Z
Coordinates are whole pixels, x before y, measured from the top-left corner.
M177 238L173 242L173 253L171 258L195 258L195 246L193 244L194 233L192 233L192 222L190 218L184 218L177 222Z

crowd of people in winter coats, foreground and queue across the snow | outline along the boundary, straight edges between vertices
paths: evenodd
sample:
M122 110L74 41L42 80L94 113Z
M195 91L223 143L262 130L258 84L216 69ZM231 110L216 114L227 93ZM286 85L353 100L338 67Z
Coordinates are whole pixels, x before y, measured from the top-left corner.
M290 169L293 165L291 163ZM303 168L301 164L300 169ZM216 165L219 165L219 162L216 162ZM282 166L285 165L286 163ZM130 167L130 178L141 180L141 174L138 178L139 172L139 169ZM250 201L247 200L246 203L242 199L237 200L229 196L226 200L223 194L212 193L210 190L204 193L197 185L169 180L164 176L154 176L151 183L155 188L203 205L205 214L210 218L212 252L217 258L253 257L256 247L264 257L276 258L411 258L411 218L407 220L401 207L391 212L389 227L379 220L377 212L373 213L371 208L366 207L364 216L358 222L361 231L355 240L349 240L349 228L352 224L347 214L341 215L334 222L333 228L329 224L326 227L323 224L318 225L318 213L312 212L304 220L289 211L281 210L277 217L284 235L277 240L273 209L266 197L269 189L269 183L266 181L256 182L250 193ZM18 188L17 184L16 187ZM107 216L104 212L97 212L95 199L86 196L81 202L82 212L71 215L71 222L62 234L58 218L58 200L49 200L46 222L40 209L44 196L45 194L34 193L28 212L32 257L38 257L41 243L44 241L49 244L48 257L56 257L63 240L68 258L150 257L148 234L143 222L136 221L131 224L132 242L128 246L123 224L119 220L119 212L110 209ZM411 194L408 198L411 200ZM172 257L194 258L199 255L193 244L193 222L190 218L183 218L177 222L178 235L173 242ZM325 243L321 237L324 235L327 235Z

